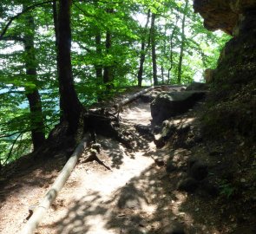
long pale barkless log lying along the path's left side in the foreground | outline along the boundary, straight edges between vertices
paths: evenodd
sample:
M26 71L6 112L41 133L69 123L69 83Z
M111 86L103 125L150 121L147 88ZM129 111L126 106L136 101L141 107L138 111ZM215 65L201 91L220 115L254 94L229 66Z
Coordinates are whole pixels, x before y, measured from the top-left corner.
M36 227L42 220L49 206L54 202L58 193L62 190L63 185L69 179L69 175L74 169L77 160L82 155L85 147L87 146L87 138L83 138L82 142L75 148L75 152L72 153L71 157L67 161L66 165L63 167L62 172L56 178L56 181L51 186L49 191L46 193L43 200L36 207L35 211L30 217L28 223L24 226L21 234L32 234L36 230Z

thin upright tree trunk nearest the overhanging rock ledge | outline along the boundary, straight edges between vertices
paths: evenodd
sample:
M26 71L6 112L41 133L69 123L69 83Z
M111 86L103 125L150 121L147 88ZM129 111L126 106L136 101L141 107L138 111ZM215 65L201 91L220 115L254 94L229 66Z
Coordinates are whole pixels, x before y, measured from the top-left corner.
M185 2L182 25L181 25L181 52L180 52L180 60L179 60L179 66L178 66L178 83L179 84L181 84L182 61L183 61L183 54L184 54L184 47L185 47L185 40L186 40L185 23L186 23L186 17L187 17L187 6L188 6L188 0L186 0Z

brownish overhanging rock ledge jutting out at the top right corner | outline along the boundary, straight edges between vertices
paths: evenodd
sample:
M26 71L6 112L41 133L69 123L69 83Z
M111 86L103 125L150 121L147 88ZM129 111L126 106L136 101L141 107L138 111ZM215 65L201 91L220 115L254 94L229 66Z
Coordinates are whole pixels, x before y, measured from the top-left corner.
M194 10L204 18L207 29L221 29L230 35L233 35L240 15L254 9L255 0L194 0Z

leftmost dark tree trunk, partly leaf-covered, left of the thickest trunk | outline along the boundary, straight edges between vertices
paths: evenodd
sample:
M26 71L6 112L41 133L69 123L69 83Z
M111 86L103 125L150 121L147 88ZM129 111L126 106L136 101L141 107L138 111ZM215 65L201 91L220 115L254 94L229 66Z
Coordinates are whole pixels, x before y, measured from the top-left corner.
M36 55L34 45L35 23L31 13L28 13L25 20L26 26L28 27L28 29L30 29L26 31L24 35L24 49L26 54L26 75L29 81L36 83ZM42 102L37 88L33 88L32 90L26 88L25 91L30 105L30 124L32 127L32 142L34 150L36 150L38 147L42 146L45 140Z

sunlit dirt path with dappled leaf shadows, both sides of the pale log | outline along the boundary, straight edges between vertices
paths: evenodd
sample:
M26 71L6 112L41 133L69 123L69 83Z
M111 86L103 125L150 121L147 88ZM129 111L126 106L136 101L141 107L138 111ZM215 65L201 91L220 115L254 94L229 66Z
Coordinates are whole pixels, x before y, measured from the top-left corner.
M186 119L186 114L181 118ZM86 150L35 233L225 233L209 223L214 221L214 205L177 191L183 172L168 174L166 166L155 163L154 159L166 161L170 155L180 163L191 152L170 146L157 149L153 141L141 137L135 125L148 126L150 120L149 103L137 100L126 106L121 124L134 133L137 145L128 149L116 140L97 136L102 146L98 157L111 171L97 162L84 163L89 155ZM30 174L11 179L4 188L9 196L0 196L0 233L21 231L30 205L43 198L63 161L56 155Z

